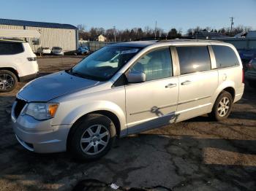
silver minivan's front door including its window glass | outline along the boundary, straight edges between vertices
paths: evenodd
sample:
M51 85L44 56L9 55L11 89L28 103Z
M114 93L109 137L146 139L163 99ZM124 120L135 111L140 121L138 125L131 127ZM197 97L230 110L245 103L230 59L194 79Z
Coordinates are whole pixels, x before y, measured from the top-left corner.
M178 77L173 77L170 48L148 52L132 70L143 71L146 82L125 86L128 133L173 122L178 103Z

